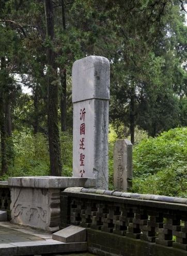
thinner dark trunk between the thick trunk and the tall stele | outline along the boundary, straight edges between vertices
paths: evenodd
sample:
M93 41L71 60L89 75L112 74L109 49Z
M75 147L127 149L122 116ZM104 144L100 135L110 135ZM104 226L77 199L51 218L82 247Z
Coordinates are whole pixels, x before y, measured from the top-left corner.
M66 18L65 18L65 6L64 0L61 0L61 15L63 19L63 30L66 30ZM66 131L66 116L67 116L67 106L66 106L66 68L60 72L61 81L61 94L60 94L60 113L61 113L61 131Z

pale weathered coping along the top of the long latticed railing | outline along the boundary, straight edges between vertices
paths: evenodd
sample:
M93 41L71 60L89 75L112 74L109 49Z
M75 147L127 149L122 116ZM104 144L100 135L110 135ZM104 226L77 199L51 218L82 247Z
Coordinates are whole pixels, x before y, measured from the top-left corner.
M89 189L89 188L83 188L83 187L72 187L72 188L69 187L69 188L66 188L64 192L92 193L92 194L100 194L100 195L112 195L112 196L121 197L121 198L187 204L187 198L166 197L165 195L157 195L157 194L138 194L138 193L119 192L116 190L103 190L103 189L92 189L92 188Z

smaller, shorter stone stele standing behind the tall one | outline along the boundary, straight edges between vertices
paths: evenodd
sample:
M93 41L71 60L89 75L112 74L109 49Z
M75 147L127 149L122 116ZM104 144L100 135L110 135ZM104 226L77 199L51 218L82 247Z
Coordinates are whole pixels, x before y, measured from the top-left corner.
M128 191L132 187L132 143L117 140L114 145L114 188Z

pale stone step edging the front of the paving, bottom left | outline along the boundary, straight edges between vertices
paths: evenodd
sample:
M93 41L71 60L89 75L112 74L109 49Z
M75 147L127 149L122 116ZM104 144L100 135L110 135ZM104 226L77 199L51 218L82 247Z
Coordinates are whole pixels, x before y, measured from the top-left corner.
M63 243L53 239L36 242L0 244L0 255L31 255L42 253L65 253L87 251L87 242Z

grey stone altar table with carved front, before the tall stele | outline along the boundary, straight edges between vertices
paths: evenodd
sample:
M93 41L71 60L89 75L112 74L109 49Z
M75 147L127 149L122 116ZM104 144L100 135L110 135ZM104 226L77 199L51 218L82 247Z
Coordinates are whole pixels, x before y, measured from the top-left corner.
M55 232L60 222L60 190L95 187L94 178L12 177L8 179L13 223Z

